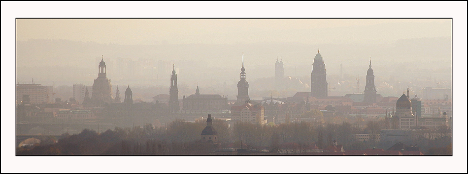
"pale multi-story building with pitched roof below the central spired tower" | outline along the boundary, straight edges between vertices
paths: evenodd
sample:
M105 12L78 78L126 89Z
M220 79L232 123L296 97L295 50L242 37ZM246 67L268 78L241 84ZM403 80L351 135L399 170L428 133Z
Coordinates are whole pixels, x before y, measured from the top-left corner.
M231 113L234 122L267 124L267 120L265 120L265 108L260 104L253 105L247 101L243 105L232 106Z

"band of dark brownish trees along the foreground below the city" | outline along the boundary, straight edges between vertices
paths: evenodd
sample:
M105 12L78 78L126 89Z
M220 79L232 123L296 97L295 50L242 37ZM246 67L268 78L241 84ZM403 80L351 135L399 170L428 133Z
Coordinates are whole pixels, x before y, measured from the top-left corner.
M62 155L177 155L208 154L215 148L269 149L285 148L293 144L296 148L318 147L326 149L336 140L345 150L363 150L368 148L387 149L393 144L381 144L377 135L385 128L383 120L370 121L364 127L347 122L341 124L320 124L311 122L293 122L279 125L259 125L237 122L228 125L222 120L213 120L213 127L218 132L218 144L202 143L201 131L205 122L188 123L176 119L167 127L144 126L115 127L98 134L94 130L84 129L79 134L63 134L55 144L17 150L18 155L62 154ZM447 130L421 130L414 141L424 149L445 147L451 143ZM355 141L352 134L370 134L368 141ZM440 136L439 136L440 135ZM429 136L429 137L428 137ZM435 137L437 136L437 137ZM432 149L440 153L440 149ZM448 151L448 150L445 150Z

